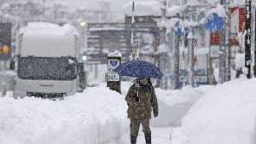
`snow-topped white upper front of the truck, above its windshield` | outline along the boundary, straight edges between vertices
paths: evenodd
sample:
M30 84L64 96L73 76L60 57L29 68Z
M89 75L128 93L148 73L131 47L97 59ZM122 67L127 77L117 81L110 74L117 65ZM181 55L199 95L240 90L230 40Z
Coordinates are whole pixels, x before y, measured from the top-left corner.
M73 26L32 22L21 27L20 34L23 34L19 47L22 56L77 56L79 38L74 36L79 32Z

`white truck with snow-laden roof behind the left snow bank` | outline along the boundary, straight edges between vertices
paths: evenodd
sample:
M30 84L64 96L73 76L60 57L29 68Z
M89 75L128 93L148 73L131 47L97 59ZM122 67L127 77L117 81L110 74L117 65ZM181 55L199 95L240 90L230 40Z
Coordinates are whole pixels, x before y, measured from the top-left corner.
M17 68L16 96L62 97L85 89L79 32L73 26L29 23L17 38L17 55L10 64Z

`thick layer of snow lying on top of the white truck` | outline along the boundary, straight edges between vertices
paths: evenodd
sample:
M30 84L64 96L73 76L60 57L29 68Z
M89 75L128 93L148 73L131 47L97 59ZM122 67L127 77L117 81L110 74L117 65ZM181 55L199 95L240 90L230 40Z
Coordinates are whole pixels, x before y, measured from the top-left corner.
M20 28L20 33L38 35L38 34L52 34L52 35L76 35L79 36L79 32L74 26L64 25L58 26L48 22L31 22L27 26Z

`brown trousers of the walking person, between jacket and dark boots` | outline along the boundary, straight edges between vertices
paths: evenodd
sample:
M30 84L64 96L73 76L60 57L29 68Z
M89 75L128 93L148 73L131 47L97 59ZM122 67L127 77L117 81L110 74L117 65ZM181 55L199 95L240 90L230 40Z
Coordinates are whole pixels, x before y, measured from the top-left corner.
M149 127L149 119L130 119L130 133L133 136L138 135L138 130L140 129L140 124L143 125L143 132L144 133L150 133L150 127Z

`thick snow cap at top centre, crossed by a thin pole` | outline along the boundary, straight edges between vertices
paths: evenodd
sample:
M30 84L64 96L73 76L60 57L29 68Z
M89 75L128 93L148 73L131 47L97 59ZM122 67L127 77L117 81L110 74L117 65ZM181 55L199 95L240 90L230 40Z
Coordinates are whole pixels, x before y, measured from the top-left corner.
M132 1L123 6L124 13L132 15ZM134 3L134 15L160 15L160 3L157 1L140 1Z

